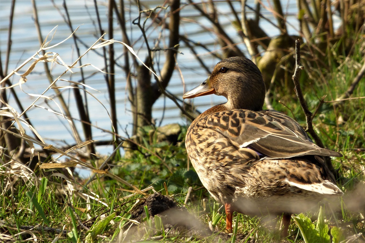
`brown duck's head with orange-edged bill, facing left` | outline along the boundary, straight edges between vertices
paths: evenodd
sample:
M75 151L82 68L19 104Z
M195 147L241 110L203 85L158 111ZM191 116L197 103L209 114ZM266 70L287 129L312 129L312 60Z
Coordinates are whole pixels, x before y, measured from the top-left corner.
M258 67L245 57L230 57L215 65L211 75L183 95L184 99L204 95L223 95L227 109L262 110L265 84Z

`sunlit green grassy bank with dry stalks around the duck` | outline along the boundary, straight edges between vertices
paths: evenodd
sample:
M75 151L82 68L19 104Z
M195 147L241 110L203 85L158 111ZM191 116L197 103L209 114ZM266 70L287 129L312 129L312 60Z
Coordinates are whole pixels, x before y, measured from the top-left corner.
M360 48L360 45L357 46ZM360 50L360 49L359 49ZM305 70L301 84L314 112L315 130L334 158L338 184L345 192L330 205L311 214L293 217L288 242L365 241L365 85L364 78L351 97L333 103L346 92L364 63L361 51L328 62L330 70ZM362 98L361 98L362 97ZM287 113L305 126L305 117L293 92L275 93L274 109ZM96 170L105 158L93 161L92 180L74 175L71 167L35 172L17 163L0 167L0 240L3 242L277 242L280 220L235 215L234 233L224 232L225 215L202 187L189 165L181 125L177 140L150 137L150 127L137 150L115 156L108 173ZM114 177L111 179L111 177ZM131 185L133 186L131 186ZM168 196L154 201L149 195ZM146 198L150 198L147 199ZM154 203L156 202L156 203ZM176 211L151 215L154 207ZM151 211L152 209L152 211ZM317 220L318 218L318 220ZM179 219L165 223L169 219ZM312 222L313 220L313 222ZM184 226L187 226L187 228ZM193 227L193 230L189 228ZM352 241L351 241L352 240Z

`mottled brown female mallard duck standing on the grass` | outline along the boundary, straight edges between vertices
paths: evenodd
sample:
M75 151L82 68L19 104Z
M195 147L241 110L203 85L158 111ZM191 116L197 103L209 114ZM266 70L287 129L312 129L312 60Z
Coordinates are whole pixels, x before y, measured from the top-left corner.
M185 145L199 178L225 205L232 232L234 211L283 214L287 236L292 213L341 195L323 156L340 153L318 147L289 116L262 110L265 84L258 67L244 57L217 63L210 77L183 98L222 95L224 104L201 113L190 125Z

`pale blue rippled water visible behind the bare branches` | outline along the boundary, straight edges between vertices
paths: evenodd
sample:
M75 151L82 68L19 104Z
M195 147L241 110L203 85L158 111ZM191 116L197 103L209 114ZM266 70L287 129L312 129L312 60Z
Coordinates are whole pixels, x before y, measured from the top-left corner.
M142 1L143 3L148 4L150 7L155 7L156 5L163 4L164 1ZM39 23L41 26L41 31L43 38L51 31L55 26L58 26L57 32L55 32L54 38L51 42L51 45L64 40L70 34L69 27L65 24L62 14L65 13L62 7L62 1L55 1L55 5L59 8L54 7L53 3L49 0L37 0L37 9L39 16ZM80 28L77 30L76 35L80 38L85 44L85 46L79 45L80 52L84 53L87 47L91 46L97 38L100 37L99 32L95 26L93 21L96 20L95 8L93 6L93 1L90 0L75 0L75 1L66 1L66 4L69 9L70 18L72 20L73 29L77 26ZM104 30L107 30L107 8L106 1L99 1L99 13L101 17L101 22L103 23ZM233 2L235 9L237 11L240 10L241 6L239 2ZM253 1L250 1L249 4L253 6ZM265 3L267 6L270 6L269 3ZM227 30L228 33L236 33L234 28L231 26L231 20L233 16L229 14L230 9L228 8L227 3L224 1L217 2L219 6L218 9L220 11L220 15L223 18L220 19L220 23ZM4 65L5 63L5 53L6 53L6 45L7 45L7 34L8 34L8 21L9 21L9 13L10 13L11 1L0 1L0 41L1 41L1 60ZM183 5L182 5L183 6ZM146 49L144 43L141 41L140 36L141 33L137 26L131 24L131 19L137 16L137 7L135 5L130 5L126 1L126 7L130 9L130 12L127 13L127 17L130 16L130 19L127 21L127 28L131 33L132 42L136 42L134 46L134 50L138 53L139 57L144 60L146 55ZM288 0L283 1L283 9L287 9L288 15L287 20L291 23L291 26L288 26L289 33L296 33L296 28L298 27L297 21L295 19L296 13L296 1ZM262 12L266 17L273 19L272 14L269 11ZM185 18L186 20L194 20L194 22L189 22L183 20L181 25L181 34L186 34L190 39L193 39L195 42L201 42L208 46L211 50L219 49L218 44L216 43L216 36L207 33L201 25L205 25L211 27L211 24L208 23L207 20L202 18L199 13L195 11L191 6L185 6L182 8L180 13L181 18ZM273 22L275 22L273 20ZM115 20L115 33L114 38L116 40L121 40L121 34L118 28L118 23ZM147 21L147 26L150 24L150 21ZM279 34L277 28L273 28L271 24L266 22L265 20L261 21L262 26L264 27L267 34L273 36ZM154 39L160 34L161 29L155 28L151 26L147 30L147 34L149 36L149 43L151 46L154 45ZM162 31L162 35L168 35L167 31ZM237 35L232 35L234 41L237 43L241 43L242 39ZM105 38L108 38L105 35ZM11 46L11 55L9 59L9 69L8 72L12 69L15 69L25 61L28 57L33 55L39 49L39 41L37 36L37 31L34 25L34 17L32 13L32 4L31 1L28 0L18 0L16 1L15 6L15 16L14 16L14 24L12 31L12 46ZM241 43L238 45L241 50L245 50L245 46ZM200 55L202 55L205 64L208 67L214 67L215 63L218 62L218 59L212 58L210 55L205 55L206 50L197 48L196 49ZM70 38L66 42L62 43L54 49L50 51L57 52L65 63L71 64L75 59L77 59L77 53L74 47L73 39ZM115 44L115 57L120 57L123 53L123 46L119 44ZM174 72L172 80L167 88L167 90L180 97L183 93L194 86L200 84L202 81L207 78L208 73L205 72L204 69L199 67L199 63L196 61L194 55L184 46L184 43L181 42L181 48L179 49L183 53L183 55L179 54L178 66L183 73L183 78L185 82L185 89L183 88L183 83L178 72ZM98 50L101 53L101 49ZM161 63L164 61L164 54L157 53L160 55ZM86 54L82 58L82 64L91 63L100 69L104 67L103 59L97 55L95 52L91 51ZM119 65L123 65L123 57L117 60ZM26 66L29 66L28 63ZM46 78L45 73L42 71L43 64L39 63L34 71L27 77L28 81L22 85L23 91L19 86L15 87L15 90L19 96L24 107L28 107L35 100L35 97L27 95L26 93L32 94L41 94L44 92L49 85L49 81ZM26 69L22 69L24 71ZM53 78L56 78L60 73L65 70L64 67L60 67L57 65L53 65L52 74ZM95 73L95 69L91 66L84 68L85 77L90 76ZM134 71L134 70L133 70ZM22 73L21 71L19 73ZM116 68L116 99L117 99L117 108L118 108L118 122L119 122L119 134L122 136L126 136L124 131L127 131L129 134L131 133L131 122L132 116L130 112L130 105L127 101L127 90L126 90L126 78L122 69L119 67ZM69 73L64 76L65 79L79 81L80 74L72 74ZM10 78L11 82L15 84L19 81L18 76L12 76ZM105 79L103 74L96 73L91 78L86 80L86 84L91 86L92 88L99 90L99 92L88 89L92 95L96 97L100 102L96 101L90 95L87 95L90 118L93 124L97 127L110 130L111 122L108 117L108 113L103 107L106 107L109 110L108 103L108 94L107 88L105 85ZM67 82L57 81L57 86L69 85ZM66 99L66 102L69 104L70 112L73 117L78 118L78 111L76 109L76 104L74 101L73 90L65 89L62 91L63 95ZM9 96L9 105L14 107L17 111L19 111L19 107L16 106L14 99L9 92L7 91ZM45 93L46 96L53 97L54 91L48 90ZM193 103L197 105L200 111L204 111L205 109L224 102L224 97L219 96L205 96L198 97L193 100ZM37 105L40 105L45 108L51 108L56 112L61 112L61 110L56 105L58 103L58 99L55 98L54 101L39 99L37 101ZM101 105L101 104L103 105ZM39 132L39 134L46 140L47 143L53 145L62 145L62 144L74 144L75 140L71 134L70 126L68 122L61 116L56 116L53 113L47 111L46 109L32 107L27 112L28 117L30 117L32 124L35 129ZM186 124L187 121L180 115L180 111L176 108L175 104L165 97L161 97L153 107L153 117L156 121L156 124L168 124L168 123L180 123ZM162 119L163 117L163 119ZM76 128L80 132L81 137L82 129L81 123L76 122ZM103 132L99 128L93 128L92 130L94 139L101 140L111 140L112 136L106 132ZM30 133L29 133L30 134ZM110 153L112 150L111 147L98 147L97 151L101 154Z

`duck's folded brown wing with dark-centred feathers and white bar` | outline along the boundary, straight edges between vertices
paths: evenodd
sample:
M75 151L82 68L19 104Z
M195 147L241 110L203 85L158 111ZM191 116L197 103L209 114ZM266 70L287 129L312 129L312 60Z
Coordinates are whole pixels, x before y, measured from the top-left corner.
M251 148L268 159L302 155L342 157L314 144L295 120L278 111L235 109L208 115L203 120L206 128L219 131L239 147Z

